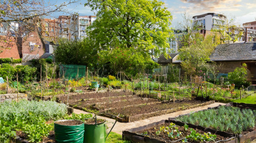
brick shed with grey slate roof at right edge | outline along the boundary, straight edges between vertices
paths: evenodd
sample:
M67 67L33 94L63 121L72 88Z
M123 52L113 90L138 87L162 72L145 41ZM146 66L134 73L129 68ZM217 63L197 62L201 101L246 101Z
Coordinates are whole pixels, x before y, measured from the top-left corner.
M218 45L210 56L211 61L221 64L220 73L229 73L243 63L247 64L249 80L256 84L256 43Z

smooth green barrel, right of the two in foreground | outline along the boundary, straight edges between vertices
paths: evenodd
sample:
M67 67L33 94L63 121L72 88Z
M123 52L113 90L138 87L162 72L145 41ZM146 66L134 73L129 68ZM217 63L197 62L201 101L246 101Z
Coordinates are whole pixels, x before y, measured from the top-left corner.
M84 123L83 143L105 143L106 126L105 121L97 124Z

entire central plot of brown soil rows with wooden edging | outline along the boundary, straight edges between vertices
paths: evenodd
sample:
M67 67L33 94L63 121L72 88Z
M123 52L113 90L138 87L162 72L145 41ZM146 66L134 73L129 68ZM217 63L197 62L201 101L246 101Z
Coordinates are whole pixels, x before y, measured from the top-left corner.
M214 101L202 102L197 100L162 102L158 99L138 97L131 92L125 91L78 94L71 95L69 98L61 96L59 101L68 102L71 107L86 112L98 113L109 118L119 115L118 121L120 122L142 120L214 103Z

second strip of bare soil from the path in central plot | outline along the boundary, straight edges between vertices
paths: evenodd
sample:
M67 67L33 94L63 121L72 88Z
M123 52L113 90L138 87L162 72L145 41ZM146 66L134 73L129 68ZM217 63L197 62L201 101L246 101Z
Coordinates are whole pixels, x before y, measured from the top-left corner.
M119 102L103 104L101 106L98 106L98 108L100 109L100 112L103 112L104 109L121 108L121 107L125 107L125 106L130 106L130 105L146 104L146 103L153 103L153 102L158 102L158 100L148 99L148 98L142 98L141 99L141 98L137 97L135 99L121 100Z

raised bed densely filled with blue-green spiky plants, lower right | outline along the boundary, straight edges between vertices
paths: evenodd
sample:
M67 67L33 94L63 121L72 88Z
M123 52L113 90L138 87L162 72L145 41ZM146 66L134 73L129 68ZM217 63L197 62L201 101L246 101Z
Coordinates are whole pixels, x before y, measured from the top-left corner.
M256 106L245 103L229 103L192 114L169 118L174 122L197 127L206 127L215 132L227 132L238 137L240 143L256 139Z

